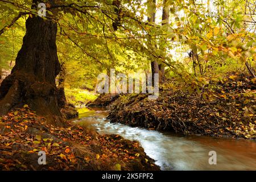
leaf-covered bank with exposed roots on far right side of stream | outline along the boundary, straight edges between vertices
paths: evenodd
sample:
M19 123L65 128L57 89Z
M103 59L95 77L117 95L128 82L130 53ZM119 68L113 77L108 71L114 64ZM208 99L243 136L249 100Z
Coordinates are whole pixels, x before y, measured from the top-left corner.
M169 84L160 87L157 100L147 96L106 94L94 103L108 105L111 122L185 135L256 139L256 79L243 73L230 73L199 94Z

